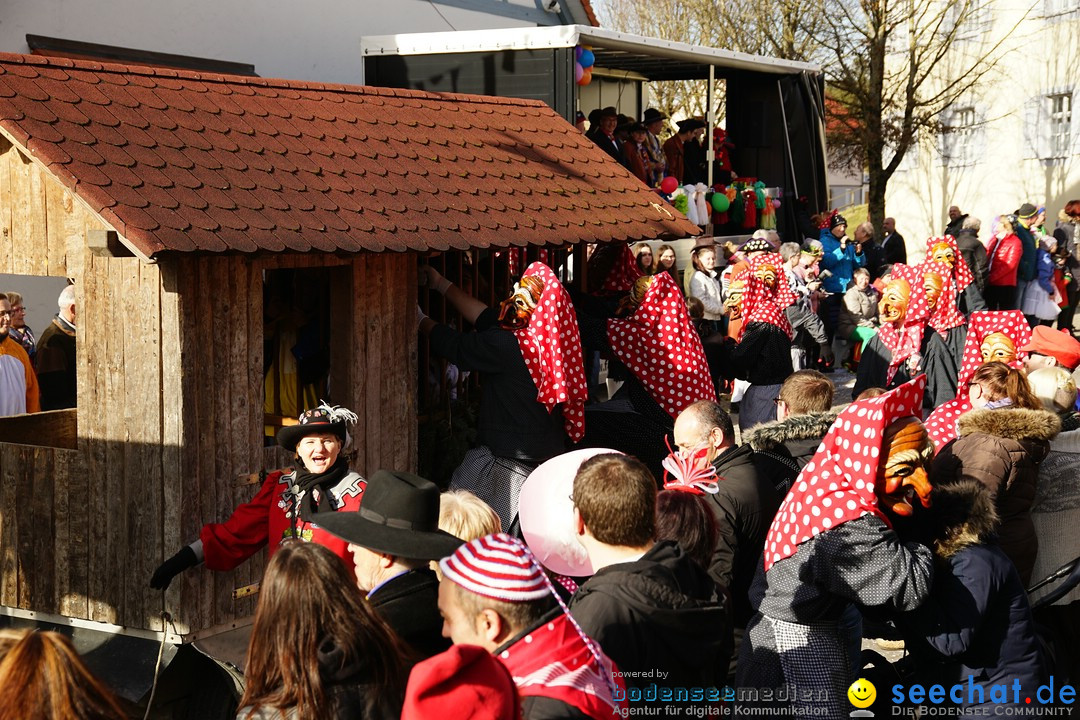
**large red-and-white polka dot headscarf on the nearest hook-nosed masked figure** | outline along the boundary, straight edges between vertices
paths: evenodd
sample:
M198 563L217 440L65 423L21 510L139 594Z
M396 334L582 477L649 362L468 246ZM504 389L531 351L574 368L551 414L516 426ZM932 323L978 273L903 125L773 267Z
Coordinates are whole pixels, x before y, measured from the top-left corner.
M920 416L926 385L927 376L920 375L840 412L769 526L766 571L795 555L800 544L848 520L877 515L892 526L874 493L878 466L887 459L881 439L896 420Z

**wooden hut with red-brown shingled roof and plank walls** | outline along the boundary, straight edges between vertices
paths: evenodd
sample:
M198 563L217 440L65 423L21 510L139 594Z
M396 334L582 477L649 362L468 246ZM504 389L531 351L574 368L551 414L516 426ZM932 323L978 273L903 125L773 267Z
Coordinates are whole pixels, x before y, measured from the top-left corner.
M0 419L0 612L173 640L253 613L259 558L148 579L288 462L275 271L316 271L366 474L416 463L417 254L696 231L539 101L0 55L0 271L72 279L79 326L78 409Z

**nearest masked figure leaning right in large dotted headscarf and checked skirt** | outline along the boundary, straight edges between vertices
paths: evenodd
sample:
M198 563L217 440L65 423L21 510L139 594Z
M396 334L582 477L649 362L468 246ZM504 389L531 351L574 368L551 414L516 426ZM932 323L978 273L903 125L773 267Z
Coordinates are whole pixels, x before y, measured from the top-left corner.
M849 405L795 479L751 588L757 612L737 687L784 688L795 715L846 717L859 668L850 667L841 615L852 603L914 610L929 595L932 553L893 529L931 504L924 385L919 376Z

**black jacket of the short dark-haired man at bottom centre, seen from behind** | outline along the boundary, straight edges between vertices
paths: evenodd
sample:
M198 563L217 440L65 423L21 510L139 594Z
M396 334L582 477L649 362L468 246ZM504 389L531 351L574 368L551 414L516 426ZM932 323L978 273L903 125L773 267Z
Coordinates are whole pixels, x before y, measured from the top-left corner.
M627 685L724 684L731 655L724 596L674 541L603 568L578 588L570 613L624 673Z

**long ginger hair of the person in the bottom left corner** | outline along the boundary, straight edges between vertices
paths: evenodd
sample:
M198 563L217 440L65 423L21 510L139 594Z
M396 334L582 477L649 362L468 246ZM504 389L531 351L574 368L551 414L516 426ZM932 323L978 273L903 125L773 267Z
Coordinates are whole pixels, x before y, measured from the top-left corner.
M66 637L31 631L12 640L0 660L0 720L126 720Z

